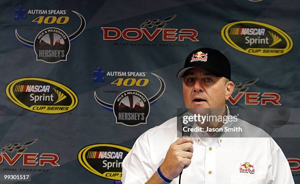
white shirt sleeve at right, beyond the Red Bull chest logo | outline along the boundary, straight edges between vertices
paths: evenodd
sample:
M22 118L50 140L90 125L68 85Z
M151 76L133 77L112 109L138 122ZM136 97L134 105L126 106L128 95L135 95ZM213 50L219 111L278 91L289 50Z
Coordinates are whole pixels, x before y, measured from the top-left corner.
M295 184L290 165L282 150L273 138L270 138L270 162L266 184Z

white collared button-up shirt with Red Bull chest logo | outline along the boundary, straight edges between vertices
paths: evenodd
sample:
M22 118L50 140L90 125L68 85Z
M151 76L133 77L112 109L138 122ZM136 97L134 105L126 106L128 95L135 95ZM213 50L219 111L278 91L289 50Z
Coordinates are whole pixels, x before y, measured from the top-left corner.
M237 123L264 133L246 121ZM145 184L152 177L177 139L176 127L174 117L136 140L122 164L123 184ZM273 138L196 136L193 140L192 162L183 170L181 184L294 184L289 163ZM178 182L179 177L172 184Z

